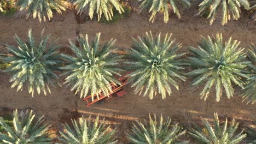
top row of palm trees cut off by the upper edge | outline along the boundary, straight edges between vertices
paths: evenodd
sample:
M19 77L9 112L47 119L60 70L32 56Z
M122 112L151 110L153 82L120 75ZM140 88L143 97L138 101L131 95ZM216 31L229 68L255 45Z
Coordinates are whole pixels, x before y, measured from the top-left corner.
M123 5L119 0L67 0L71 2L77 14L86 13L92 19L95 13L98 20L101 19L102 15L106 17L107 20L112 20L114 16L113 10L117 10L119 14L124 12ZM148 10L152 13L149 21L154 22L157 13L164 14L164 22L167 23L169 20L169 12L173 10L178 18L181 18L180 9L188 8L191 6L191 0L136 0L141 3L141 10ZM207 19L210 20L212 25L213 21L216 19L219 11L222 11L222 25L225 25L229 20L237 20L240 18L241 9L253 10L256 8L255 0L198 0L199 11L196 15L206 15ZM0 11L7 9L4 7L4 3L9 3L9 5L15 4L19 10L26 10L27 17L33 16L34 19L38 17L41 22L49 20L53 17L53 10L57 13L66 10L65 0L1 0L0 1ZM252 4L250 4L252 3ZM6 5L6 4L5 4ZM7 4L8 5L8 4Z

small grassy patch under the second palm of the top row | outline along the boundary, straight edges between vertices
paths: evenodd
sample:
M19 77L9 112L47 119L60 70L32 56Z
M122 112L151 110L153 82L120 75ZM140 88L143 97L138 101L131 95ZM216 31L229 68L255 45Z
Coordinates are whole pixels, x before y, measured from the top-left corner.
M119 12L116 9L114 9L113 10L114 16L112 17L112 20L108 21L106 19L106 17L102 16L100 22L101 23L115 23L125 17L129 17L129 15L131 14L131 7L123 5L123 9L124 9L124 12L122 14L119 14Z

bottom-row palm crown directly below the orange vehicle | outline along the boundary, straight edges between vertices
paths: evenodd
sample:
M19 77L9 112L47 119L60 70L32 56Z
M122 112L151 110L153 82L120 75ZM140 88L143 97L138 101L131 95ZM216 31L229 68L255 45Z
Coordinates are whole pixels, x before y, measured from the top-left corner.
M100 123L98 117L93 121L91 117L88 120L84 117L79 118L78 121L72 120L73 127L66 124L65 131L60 131L60 140L63 143L72 144L117 143L113 136L116 132L115 130L111 130L110 127L106 127L105 124Z

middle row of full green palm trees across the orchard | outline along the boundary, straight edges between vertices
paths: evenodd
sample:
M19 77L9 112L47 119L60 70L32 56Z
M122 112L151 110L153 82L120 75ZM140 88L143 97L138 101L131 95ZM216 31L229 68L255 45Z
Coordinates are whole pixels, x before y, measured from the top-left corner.
M191 88L203 86L201 99L206 100L212 89L215 89L216 101L223 93L231 98L234 88L238 87L243 89L241 96L248 103L256 101L256 47L251 45L246 55L240 42L231 38L224 42L222 34L202 37L198 47L189 48L188 56L177 53L182 45L176 43L171 34L166 34L164 39L161 34L154 37L151 32L145 37L133 38L132 47L125 55L115 52L113 39L100 45L100 33L91 43L87 34L80 34L78 45L69 41L72 56L60 54L57 51L60 45L49 43L49 38L50 35L43 37L42 32L37 43L29 29L26 41L15 34L18 46L7 45L7 52L0 53L0 60L8 65L3 71L11 75L11 88L22 91L27 86L32 97L34 91L46 95L47 91L51 93L49 85L61 86L57 81L57 74L61 73L66 77L64 84L75 94L80 93L81 98L100 92L108 95L112 91L110 83L120 84L114 75L121 76L120 72L125 69L131 72L127 77L135 93L143 93L150 99L158 94L165 99L171 95L172 87L179 89L179 83L189 76L193 77ZM121 61L126 64L124 69L120 67ZM193 70L185 73L185 67Z

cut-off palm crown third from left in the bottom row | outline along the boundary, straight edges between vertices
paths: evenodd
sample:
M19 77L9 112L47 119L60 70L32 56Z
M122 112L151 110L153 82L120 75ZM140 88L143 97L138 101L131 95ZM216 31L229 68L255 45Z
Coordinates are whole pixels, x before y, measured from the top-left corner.
M128 139L132 143L187 143L186 141L179 141L178 138L185 134L186 130L182 130L177 124L172 125L171 119L168 117L164 122L164 118L161 116L160 121L154 119L149 114L149 122L144 119L144 122L133 123L131 133L128 135Z

